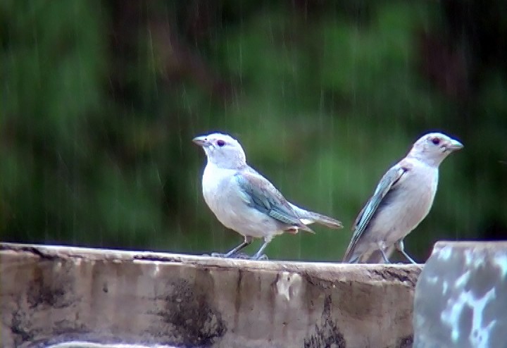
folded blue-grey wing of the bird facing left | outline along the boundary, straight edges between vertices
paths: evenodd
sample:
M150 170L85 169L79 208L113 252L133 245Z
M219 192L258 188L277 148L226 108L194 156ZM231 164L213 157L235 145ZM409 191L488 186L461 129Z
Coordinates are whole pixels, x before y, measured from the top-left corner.
M246 204L281 223L313 232L311 228L301 223L287 199L263 176L251 171L242 171L236 173L234 179L242 190L242 198Z

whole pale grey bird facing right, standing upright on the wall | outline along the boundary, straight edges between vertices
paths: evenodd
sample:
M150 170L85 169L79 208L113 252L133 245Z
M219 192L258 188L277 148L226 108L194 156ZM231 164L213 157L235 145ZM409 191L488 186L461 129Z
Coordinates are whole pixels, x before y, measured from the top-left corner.
M439 165L463 144L440 132L420 137L378 183L353 224L343 262L389 263L398 250L411 263L403 239L427 216L437 192ZM375 261L377 260L377 261Z

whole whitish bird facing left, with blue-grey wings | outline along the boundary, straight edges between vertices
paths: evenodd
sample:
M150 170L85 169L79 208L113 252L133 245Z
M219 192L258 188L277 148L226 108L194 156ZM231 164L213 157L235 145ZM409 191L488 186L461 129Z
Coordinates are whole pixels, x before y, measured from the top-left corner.
M207 157L202 176L204 201L216 218L244 237L244 241L224 257L236 255L253 238L264 242L251 259L265 258L264 249L275 235L299 230L312 232L311 223L342 228L339 220L296 206L275 186L246 163L246 154L237 139L215 132L194 137Z

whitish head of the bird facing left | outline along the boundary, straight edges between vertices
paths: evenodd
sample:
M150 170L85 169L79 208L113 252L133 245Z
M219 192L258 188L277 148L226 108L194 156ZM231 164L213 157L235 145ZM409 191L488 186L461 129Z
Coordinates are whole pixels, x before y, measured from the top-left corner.
M204 149L208 163L218 168L238 169L246 165L246 155L239 142L227 134L212 133L194 137L192 141Z

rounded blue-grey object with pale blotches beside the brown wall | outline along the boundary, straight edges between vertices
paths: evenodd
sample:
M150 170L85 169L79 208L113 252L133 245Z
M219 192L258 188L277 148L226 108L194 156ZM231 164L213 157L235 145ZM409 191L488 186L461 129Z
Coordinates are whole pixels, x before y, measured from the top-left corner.
M507 242L438 242L415 290L415 348L507 347Z

